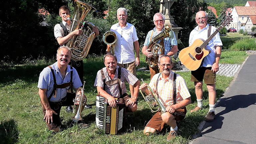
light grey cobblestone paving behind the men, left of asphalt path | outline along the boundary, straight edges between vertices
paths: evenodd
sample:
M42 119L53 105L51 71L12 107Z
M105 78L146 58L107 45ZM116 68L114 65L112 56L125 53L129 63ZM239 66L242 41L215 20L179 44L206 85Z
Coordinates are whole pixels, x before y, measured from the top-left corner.
M228 77L232 77L236 74L237 70L240 68L240 64L219 64L219 71L217 72L217 74L219 75L224 75L224 76L228 76ZM146 70L146 67L143 68L139 68L137 69L137 71L148 71ZM185 66L180 66L181 70L174 70L177 72L186 72L186 71L190 71L188 70Z

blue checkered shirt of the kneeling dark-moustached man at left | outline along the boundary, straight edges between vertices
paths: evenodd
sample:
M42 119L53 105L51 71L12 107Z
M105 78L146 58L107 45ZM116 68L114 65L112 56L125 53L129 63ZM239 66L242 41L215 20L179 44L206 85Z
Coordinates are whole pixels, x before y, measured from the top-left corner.
M64 79L62 79L61 73L59 71L57 62L51 65L52 69L54 70L54 75L56 77L56 83L57 85L63 84L63 83L69 83L70 82L70 66L68 65L67 71L66 71L66 76ZM79 88L82 86L82 83L79 79L79 76L77 74L77 71L75 68L73 68L73 77L72 77L72 82L73 82L73 88ZM51 69L49 67L46 67L43 69L43 71L40 73L39 80L38 80L38 88L41 89L47 89L46 91L46 96L47 98L51 95L51 92L53 91L53 84L54 84L54 79L53 75L51 72ZM70 88L70 86L66 88L57 88L57 94L56 97L53 97L50 99L51 102L58 102L62 98L64 98L67 95L67 90Z

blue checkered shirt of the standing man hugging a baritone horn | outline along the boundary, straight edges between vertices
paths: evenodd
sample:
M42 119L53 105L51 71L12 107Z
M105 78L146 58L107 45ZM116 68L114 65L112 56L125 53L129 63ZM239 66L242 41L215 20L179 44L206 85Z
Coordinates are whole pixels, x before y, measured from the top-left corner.
M164 30L164 28L163 28ZM163 31L162 30L162 31ZM153 35L152 35L152 39L158 35L158 33L156 32L156 27L149 31L148 34L147 34L147 37L146 37L146 40L144 42L144 46L148 46L149 42L150 42L150 37L151 37L151 34L153 32ZM173 39L170 39L169 37L167 38L164 38L164 54L167 54L169 51L171 51L172 49L172 46L175 46L177 45L177 41L176 41L176 37L175 37L175 34L173 32L173 35L174 35L174 38ZM160 43L161 40L157 41L156 43ZM160 55L160 51L158 51L158 54Z

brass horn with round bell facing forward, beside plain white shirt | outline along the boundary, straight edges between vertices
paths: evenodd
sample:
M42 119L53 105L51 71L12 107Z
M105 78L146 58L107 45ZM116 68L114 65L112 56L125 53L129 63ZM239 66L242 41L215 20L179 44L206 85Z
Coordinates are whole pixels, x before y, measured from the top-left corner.
M107 31L104 33L102 39L105 44L110 45L107 51L114 54L114 45L117 39L116 34L112 31Z

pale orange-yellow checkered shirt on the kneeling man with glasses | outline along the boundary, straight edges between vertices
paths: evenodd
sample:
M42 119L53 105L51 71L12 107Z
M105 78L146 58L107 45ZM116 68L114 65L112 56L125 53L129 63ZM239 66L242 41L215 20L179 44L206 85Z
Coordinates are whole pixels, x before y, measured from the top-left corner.
M156 91L156 82L159 74L153 76L152 80L149 83L149 86L153 91ZM169 77L164 80L162 74L159 77L157 84L157 93L159 100L163 103L165 107L173 105L173 75L174 72L171 72ZM176 102L179 103L184 99L190 97L186 82L184 79L177 74L176 77Z

